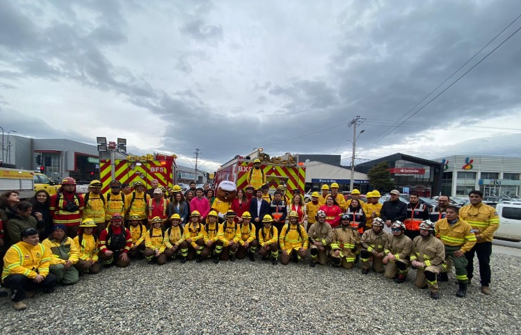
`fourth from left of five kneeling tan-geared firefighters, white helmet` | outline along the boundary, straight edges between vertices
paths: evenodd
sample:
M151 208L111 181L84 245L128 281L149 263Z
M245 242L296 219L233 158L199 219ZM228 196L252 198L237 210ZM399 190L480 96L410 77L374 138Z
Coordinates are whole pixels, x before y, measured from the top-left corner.
M406 225L401 221L394 221L391 224L392 234L385 243L385 278L394 279L396 284L406 281L407 268L410 265L409 257L412 252L412 240L403 234Z

